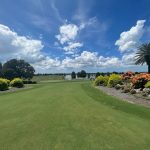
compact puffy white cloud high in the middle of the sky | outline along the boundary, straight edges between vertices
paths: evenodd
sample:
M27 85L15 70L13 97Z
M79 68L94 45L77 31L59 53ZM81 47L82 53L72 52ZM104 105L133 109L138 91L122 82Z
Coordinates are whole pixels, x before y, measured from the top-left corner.
M74 40L78 34L79 28L75 24L65 24L60 26L60 34L56 35L56 38L61 44Z

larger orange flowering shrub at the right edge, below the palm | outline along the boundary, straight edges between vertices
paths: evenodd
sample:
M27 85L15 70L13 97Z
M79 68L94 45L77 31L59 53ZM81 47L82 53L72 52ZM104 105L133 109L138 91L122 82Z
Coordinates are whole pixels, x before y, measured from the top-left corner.
M131 78L131 82L134 88L144 88L144 85L150 81L150 74L148 73L140 73Z

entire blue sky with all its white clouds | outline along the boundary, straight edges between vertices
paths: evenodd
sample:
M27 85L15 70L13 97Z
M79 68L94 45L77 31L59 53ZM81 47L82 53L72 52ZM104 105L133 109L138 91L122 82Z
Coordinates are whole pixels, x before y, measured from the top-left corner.
M134 65L150 39L149 0L0 0L0 62L36 73L147 71Z

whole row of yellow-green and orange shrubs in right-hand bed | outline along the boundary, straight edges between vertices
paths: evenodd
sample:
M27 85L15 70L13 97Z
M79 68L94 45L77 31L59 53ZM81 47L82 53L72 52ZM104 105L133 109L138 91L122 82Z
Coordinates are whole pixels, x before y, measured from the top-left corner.
M122 75L98 76L94 83L96 86L115 87L124 93L140 93L143 96L150 96L150 74L147 73L135 75L130 71Z

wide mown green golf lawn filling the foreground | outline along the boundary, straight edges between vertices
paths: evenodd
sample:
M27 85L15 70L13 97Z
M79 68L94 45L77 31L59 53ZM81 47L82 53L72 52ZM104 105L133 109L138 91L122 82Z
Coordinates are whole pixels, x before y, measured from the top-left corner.
M149 150L150 108L89 81L0 94L0 150Z

